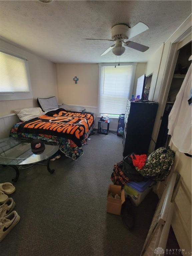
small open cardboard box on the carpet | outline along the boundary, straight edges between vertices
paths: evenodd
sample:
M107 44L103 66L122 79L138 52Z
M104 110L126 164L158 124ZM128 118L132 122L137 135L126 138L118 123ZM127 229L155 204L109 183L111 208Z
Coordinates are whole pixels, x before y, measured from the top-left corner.
M118 194L121 199L116 199L109 197L109 194L112 193L113 196ZM125 202L125 192L124 189L121 191L121 186L109 185L107 193L107 212L120 215L121 214L121 205Z

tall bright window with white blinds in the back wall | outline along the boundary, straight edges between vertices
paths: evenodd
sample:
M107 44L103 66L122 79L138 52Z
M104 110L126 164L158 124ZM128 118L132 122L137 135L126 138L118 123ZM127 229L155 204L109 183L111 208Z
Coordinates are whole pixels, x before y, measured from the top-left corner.
M113 65L113 66L112 66ZM100 65L99 113L111 117L125 113L127 98L131 98L135 63Z

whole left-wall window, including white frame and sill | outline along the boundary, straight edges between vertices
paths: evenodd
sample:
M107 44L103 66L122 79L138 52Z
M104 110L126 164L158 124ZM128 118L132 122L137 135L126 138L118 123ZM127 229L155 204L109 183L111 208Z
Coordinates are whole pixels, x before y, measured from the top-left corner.
M0 100L31 98L27 60L0 51Z

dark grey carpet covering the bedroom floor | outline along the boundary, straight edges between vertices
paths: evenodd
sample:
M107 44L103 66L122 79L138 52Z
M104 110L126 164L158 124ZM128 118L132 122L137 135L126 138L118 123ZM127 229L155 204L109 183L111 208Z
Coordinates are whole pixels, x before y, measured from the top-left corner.
M134 209L136 225L129 231L121 217L106 213L106 195L114 163L122 160L122 138L93 135L77 161L62 156L51 166L23 170L10 195L21 216L0 243L5 256L139 256L157 196L151 192ZM1 168L1 182L15 175Z

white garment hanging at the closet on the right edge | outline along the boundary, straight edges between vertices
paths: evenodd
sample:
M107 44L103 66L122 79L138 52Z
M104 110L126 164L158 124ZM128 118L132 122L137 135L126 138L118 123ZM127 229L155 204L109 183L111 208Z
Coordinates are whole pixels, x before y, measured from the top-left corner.
M168 129L173 144L180 152L191 152L191 69L189 67L183 84L177 94L173 108L169 114Z

